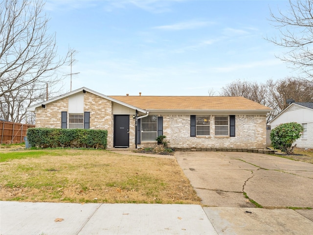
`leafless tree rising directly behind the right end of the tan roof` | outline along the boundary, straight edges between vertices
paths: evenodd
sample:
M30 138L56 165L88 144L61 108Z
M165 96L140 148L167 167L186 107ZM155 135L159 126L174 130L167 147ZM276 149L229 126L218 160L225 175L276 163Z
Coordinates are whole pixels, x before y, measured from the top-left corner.
M222 87L220 95L224 96L243 96L257 103L266 105L268 90L264 84L236 80L225 87Z

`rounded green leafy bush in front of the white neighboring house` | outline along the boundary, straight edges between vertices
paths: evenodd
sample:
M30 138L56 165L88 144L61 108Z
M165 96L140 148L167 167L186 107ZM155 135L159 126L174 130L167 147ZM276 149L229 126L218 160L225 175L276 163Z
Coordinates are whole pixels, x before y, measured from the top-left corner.
M293 154L293 148L296 144L292 144L301 137L302 132L303 126L296 122L283 123L276 126L270 132L273 148L287 154Z

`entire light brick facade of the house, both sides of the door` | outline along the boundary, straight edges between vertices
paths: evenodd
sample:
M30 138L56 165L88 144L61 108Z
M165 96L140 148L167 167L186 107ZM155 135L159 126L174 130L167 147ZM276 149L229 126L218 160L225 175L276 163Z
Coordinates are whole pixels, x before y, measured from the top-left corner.
M68 112L68 98L36 109L36 127L61 128L61 112ZM113 147L113 104L95 94L84 95L84 112L90 112L90 129L108 130L108 148ZM236 115L236 137L216 137L214 135L214 115L210 116L210 136L190 137L190 115L162 115L163 135L176 148L265 148L266 116ZM67 115L68 119L68 115ZM312 127L310 127L312 128ZM308 133L309 129L308 125ZM135 125L130 115L130 147L135 147ZM138 146L154 146L155 142L142 142Z

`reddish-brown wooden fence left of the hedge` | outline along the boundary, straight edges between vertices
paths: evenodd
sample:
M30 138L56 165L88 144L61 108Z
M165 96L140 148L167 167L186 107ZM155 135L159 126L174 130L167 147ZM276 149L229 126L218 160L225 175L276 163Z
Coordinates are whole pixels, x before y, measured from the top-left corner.
M0 143L22 143L26 136L27 129L35 125L0 121Z

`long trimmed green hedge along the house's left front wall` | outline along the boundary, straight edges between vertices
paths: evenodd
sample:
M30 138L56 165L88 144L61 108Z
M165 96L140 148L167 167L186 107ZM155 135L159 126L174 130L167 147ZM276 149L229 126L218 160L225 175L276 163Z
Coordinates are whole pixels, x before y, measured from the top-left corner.
M33 147L107 148L107 130L28 128L27 140Z

